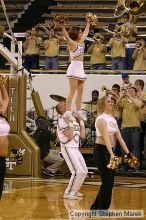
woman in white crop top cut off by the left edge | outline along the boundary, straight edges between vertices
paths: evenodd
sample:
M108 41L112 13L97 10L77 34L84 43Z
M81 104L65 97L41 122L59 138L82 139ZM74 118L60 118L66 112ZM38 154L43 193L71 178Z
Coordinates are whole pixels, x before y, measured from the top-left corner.
M0 84L0 199L3 191L3 183L6 172L6 161L5 158L8 153L8 134L10 126L4 117L4 113L7 110L9 103L9 97L7 90L3 83Z

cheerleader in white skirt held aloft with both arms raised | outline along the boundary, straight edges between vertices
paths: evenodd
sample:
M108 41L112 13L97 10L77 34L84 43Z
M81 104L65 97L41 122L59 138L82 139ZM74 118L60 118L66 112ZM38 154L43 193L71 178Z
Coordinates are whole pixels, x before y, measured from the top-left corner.
M83 67L84 41L89 33L90 21L87 20L87 24L83 32L80 27L71 27L69 32L67 32L63 23L61 24L61 27L63 35L68 44L71 60L71 63L67 69L67 77L69 78L70 91L66 99L66 112L64 114L64 117L66 117L70 121L75 121L75 118L71 114L71 104L75 92L77 92L77 113L81 119L86 121L86 117L81 111L81 102L84 81L86 80L86 75Z

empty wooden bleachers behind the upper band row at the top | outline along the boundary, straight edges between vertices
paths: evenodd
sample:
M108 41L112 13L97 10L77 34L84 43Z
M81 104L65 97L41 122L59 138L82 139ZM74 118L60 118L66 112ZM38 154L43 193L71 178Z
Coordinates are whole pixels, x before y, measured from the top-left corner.
M29 7L26 5L29 4ZM45 27L52 22L56 14L64 15L68 18L67 28L72 25L79 25L80 27L85 26L85 14L91 12L96 14L98 17L98 24L94 27L105 37L106 43L112 36L106 32L103 27L108 27L109 24L116 24L117 19L114 18L114 10L116 1L114 0L51 0L46 6L45 2L41 0L6 0L5 1L7 13L12 24L14 32L25 32L30 29L31 26L37 23L44 24ZM42 13L42 14L41 14ZM0 23L6 25L5 16L2 8L0 8ZM18 20L19 18L19 20ZM30 22L31 21L31 22ZM139 38L145 37L146 33L146 15L141 14L138 18L137 27ZM61 32L60 27L57 27L57 31ZM44 34L40 32L40 35L45 38ZM24 40L24 39L23 39ZM44 47L41 46L40 56L40 68L44 68ZM111 57L110 50L107 51L107 69L111 69ZM61 42L60 55L59 55L59 69L66 69L68 64L69 56L67 52L67 46L65 42ZM90 55L85 53L84 58L85 69L89 69L90 66Z

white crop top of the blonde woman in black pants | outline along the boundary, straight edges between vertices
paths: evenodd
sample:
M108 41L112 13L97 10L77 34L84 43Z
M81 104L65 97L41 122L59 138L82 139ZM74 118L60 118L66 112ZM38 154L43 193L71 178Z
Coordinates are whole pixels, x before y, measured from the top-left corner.
M118 131L118 124L117 124L116 119L112 115L109 115L109 114L106 114L106 113L102 113L101 115L99 115L96 118L96 121L95 121L95 128L96 128L96 135L97 135L97 137L102 136L100 130L96 126L96 122L99 119L103 119L106 122L106 124L107 124L107 131L108 131L109 135L114 135Z

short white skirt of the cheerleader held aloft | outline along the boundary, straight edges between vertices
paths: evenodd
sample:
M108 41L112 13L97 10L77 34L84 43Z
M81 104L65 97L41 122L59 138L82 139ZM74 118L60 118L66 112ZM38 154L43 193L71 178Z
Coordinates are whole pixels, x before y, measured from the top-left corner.
M78 80L86 80L86 75L84 71L84 66L82 61L72 60L71 64L68 66L67 75L68 78L75 78Z

